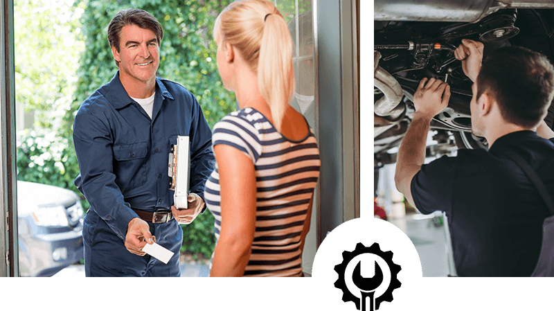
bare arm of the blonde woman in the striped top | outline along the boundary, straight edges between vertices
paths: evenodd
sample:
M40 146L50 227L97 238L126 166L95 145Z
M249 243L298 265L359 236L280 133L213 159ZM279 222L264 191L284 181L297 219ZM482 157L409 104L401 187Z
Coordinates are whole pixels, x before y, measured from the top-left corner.
M213 151L222 221L210 276L242 276L256 231L256 173L252 160L238 149L218 144Z

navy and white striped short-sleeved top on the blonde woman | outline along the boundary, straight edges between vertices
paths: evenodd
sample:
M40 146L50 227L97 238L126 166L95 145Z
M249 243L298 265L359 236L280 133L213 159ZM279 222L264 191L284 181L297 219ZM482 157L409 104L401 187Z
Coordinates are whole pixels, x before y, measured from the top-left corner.
M301 231L321 165L312 128L305 138L292 141L247 107L215 124L212 142L244 152L256 170L256 233L244 276L302 276ZM216 163L204 197L215 217L217 240L222 220L219 178Z

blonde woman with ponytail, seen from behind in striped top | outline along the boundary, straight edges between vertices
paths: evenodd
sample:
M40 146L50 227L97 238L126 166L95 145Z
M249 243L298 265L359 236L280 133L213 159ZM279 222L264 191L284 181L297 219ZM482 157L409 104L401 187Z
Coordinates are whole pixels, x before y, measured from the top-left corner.
M294 94L292 39L273 3L231 3L214 28L217 66L240 111L213 127L206 181L215 216L210 276L303 276L319 150Z

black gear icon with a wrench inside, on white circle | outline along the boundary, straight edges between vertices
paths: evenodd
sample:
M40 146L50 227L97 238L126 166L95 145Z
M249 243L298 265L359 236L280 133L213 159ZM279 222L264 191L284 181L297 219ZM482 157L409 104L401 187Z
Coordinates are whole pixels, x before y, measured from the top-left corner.
M393 290L402 285L397 279L402 267L393 262L391 251L382 251L377 242L371 247L359 242L342 257L342 263L334 266L338 274L334 287L343 291L343 302L354 303L359 311L378 310L383 301L392 302Z

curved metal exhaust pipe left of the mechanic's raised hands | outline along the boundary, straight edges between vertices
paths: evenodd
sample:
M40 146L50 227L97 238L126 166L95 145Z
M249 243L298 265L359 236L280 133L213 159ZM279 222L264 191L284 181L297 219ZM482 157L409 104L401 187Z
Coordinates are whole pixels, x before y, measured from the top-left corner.
M402 87L388 72L379 66L381 53L373 50L373 85L384 94L373 105L373 112L377 116L386 116L388 121L397 121L406 111L406 104L402 102ZM400 105L399 105L400 104Z

